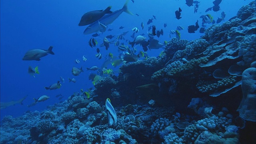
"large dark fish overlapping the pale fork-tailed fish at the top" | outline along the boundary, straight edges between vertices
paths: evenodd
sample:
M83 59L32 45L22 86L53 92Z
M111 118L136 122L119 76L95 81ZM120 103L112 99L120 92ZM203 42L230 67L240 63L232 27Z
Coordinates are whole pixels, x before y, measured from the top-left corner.
M108 6L105 10L94 10L94 11L86 12L82 16L78 26L86 26L88 24L95 22L96 20L99 20L105 14L111 14L112 11L110 11L110 9L111 9L111 6Z

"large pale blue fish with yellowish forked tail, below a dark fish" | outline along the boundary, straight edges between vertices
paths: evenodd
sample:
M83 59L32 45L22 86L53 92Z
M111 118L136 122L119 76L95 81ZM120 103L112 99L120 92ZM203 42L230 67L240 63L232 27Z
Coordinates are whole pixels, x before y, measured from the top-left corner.
M120 14L122 14L122 12L126 12L128 14L133 15L132 12L130 12L128 10L127 4L128 4L128 0L126 0L126 3L124 4L122 9L116 10L116 11L112 12L111 14L106 14L106 15L102 16L102 18L100 18L98 21L100 22L100 24L103 24L104 26L107 26L107 25L111 24L112 22L114 22L114 20L116 20L116 18L118 18L118 16L120 16ZM102 25L100 25L98 21L93 22L92 24L90 24L84 30L84 34L92 34L94 32L98 32L99 30L101 30Z

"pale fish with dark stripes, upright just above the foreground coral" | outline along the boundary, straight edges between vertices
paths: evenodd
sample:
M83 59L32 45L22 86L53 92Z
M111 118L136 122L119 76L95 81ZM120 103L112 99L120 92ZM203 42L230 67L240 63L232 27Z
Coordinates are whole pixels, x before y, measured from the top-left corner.
M110 126L112 126L112 125L116 124L117 116L116 116L116 112L115 112L109 98L106 99L105 106L106 106L106 113L108 115L108 123Z

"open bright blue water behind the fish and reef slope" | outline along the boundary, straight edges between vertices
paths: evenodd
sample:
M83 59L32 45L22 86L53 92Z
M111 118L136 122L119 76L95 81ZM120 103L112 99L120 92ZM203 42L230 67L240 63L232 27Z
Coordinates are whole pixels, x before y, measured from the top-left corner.
M1 0L0 2L0 62L1 62L1 84L0 84L0 101L10 102L20 100L27 95L23 105L16 104L1 109L0 119L4 116L12 115L14 118L22 116L27 111L46 110L47 106L67 100L74 92L94 88L91 80L88 80L90 73L86 68L91 66L101 67L108 53L118 56L118 48L110 44L110 48L105 50L99 45L103 38L110 34L118 35L129 31L126 40L133 41L130 36L134 27L137 27L139 34L147 36L148 27L155 25L157 30L163 29L164 35L156 38L159 42L169 41L175 37L169 37L170 30L176 30L177 26L184 27L180 30L181 39L195 40L203 36L199 33L188 33L188 26L194 25L199 21L202 25L200 16L210 14L216 21L221 17L221 12L225 12L226 18L220 24L236 16L237 11L243 5L249 4L253 0L222 0L220 10L217 12L205 10L211 6L213 0L201 0L198 12L194 13L194 6L187 6L185 0L134 0L128 2L128 9L134 16L123 12L107 29L113 29L111 32L106 31L96 38L98 46L91 48L88 44L92 34L84 35L83 31L87 26L78 26L81 16L92 10L104 10L112 6L111 10L119 10L123 7L125 0ZM175 11L182 9L181 19L177 20ZM139 16L136 16L138 14ZM151 24L146 24L148 19L156 16ZM142 30L140 24L144 23ZM164 23L167 27L164 28ZM212 24L206 24L206 28ZM119 29L123 26L124 29ZM152 30L150 30L152 31ZM115 36L115 37L116 37ZM112 39L114 40L114 39ZM110 40L110 41L112 41ZM124 44L128 45L128 41ZM54 55L48 54L41 58L40 61L24 61L24 54L31 49L48 49L53 46ZM96 48L100 48L103 56L102 59L96 58ZM137 53L142 50L141 46L136 46ZM149 57L158 56L163 48L148 50ZM86 56L87 61L83 62L82 56ZM79 64L74 61L80 60ZM140 58L144 59L144 58ZM28 74L28 67L38 66L40 74L35 74L35 78ZM72 75L72 67L82 67L84 72L79 76ZM119 67L119 66L118 66ZM114 75L118 76L118 67L114 68L111 64L108 68L114 69ZM51 84L56 83L63 77L65 82L57 90L46 90ZM76 83L68 82L68 78L75 78ZM59 100L56 95L62 94L64 98ZM34 102L33 98L39 98L42 95L50 96L44 102L39 102L35 106L28 107Z

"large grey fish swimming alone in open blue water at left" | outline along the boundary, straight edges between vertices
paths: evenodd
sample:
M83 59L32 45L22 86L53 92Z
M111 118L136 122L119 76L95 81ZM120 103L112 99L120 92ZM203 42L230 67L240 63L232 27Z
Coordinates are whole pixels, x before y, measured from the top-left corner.
M22 60L40 60L40 58L47 56L48 54L54 54L52 52L52 46L48 48L48 50L42 50L42 49L33 49L26 52L25 56L22 58Z

